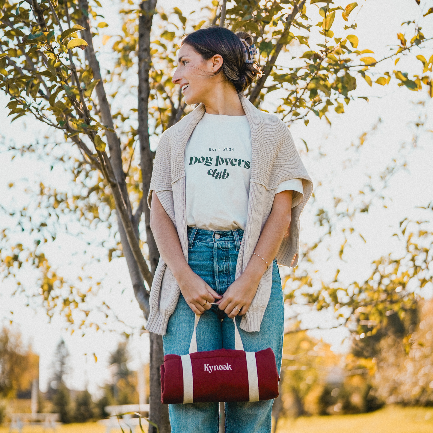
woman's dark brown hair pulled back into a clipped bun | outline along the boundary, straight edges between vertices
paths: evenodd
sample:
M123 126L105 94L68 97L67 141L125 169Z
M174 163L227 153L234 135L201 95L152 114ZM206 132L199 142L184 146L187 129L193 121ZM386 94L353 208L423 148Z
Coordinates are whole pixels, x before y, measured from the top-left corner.
M190 33L184 37L181 45L191 45L204 60L219 54L223 58L223 66L217 73L222 71L226 80L233 83L240 93L246 90L256 77L262 76L260 65L256 62L245 62L245 48L240 39L245 39L249 45L253 44L249 33L235 34L229 29L213 26Z

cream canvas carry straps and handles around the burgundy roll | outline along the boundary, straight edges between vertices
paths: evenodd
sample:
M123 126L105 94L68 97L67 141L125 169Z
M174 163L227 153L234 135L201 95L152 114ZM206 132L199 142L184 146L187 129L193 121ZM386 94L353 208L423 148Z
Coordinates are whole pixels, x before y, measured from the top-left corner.
M197 337L195 330L197 323L200 320L200 315L195 315L194 320L194 332L191 338L191 344L189 353L197 352ZM239 334L236 320L233 317L233 323L235 325L235 349L243 350L242 339ZM255 362L255 352L245 352L246 355L246 366L248 372L248 388L249 388L249 401L259 401L259 379L257 376L257 364ZM183 379L184 379L184 404L192 403L194 398L194 386L192 376L192 364L190 355L181 355Z

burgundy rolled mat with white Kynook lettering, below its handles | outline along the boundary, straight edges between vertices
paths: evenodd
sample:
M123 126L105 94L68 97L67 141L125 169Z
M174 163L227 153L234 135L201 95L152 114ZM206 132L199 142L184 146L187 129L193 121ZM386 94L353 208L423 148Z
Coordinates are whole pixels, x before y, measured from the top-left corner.
M278 397L279 380L271 348L259 352L219 349L165 355L161 365L161 401L177 404L269 400Z

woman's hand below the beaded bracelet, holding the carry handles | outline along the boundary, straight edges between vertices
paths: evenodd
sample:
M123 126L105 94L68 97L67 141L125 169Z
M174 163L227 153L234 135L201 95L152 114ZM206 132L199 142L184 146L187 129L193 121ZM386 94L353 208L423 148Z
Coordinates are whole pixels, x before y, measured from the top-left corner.
M223 294L223 299L217 302L220 310L224 310L230 319L247 312L259 287L260 278L250 278L245 272Z

